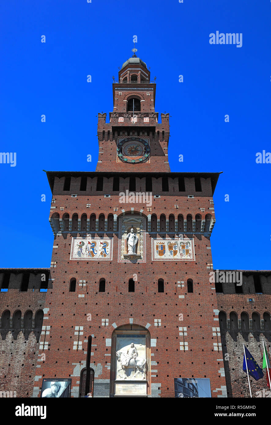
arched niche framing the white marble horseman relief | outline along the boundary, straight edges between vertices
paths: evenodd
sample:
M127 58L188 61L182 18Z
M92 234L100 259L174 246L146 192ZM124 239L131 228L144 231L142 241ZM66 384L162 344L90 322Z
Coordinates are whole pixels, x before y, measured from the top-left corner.
M151 394L148 329L119 326L111 339L110 397L147 397Z

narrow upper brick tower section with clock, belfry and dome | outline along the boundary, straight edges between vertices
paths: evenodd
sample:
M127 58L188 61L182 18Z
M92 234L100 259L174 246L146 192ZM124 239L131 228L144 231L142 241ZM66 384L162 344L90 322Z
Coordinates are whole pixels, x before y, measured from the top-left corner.
M135 51L135 49L133 49ZM113 82L113 111L98 114L96 171L170 172L169 114L155 112L156 77L134 53Z

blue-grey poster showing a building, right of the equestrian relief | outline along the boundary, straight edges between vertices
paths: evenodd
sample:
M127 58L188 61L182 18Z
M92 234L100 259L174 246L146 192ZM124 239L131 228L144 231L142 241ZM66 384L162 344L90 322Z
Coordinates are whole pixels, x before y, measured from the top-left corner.
M209 378L174 378L175 397L212 397Z

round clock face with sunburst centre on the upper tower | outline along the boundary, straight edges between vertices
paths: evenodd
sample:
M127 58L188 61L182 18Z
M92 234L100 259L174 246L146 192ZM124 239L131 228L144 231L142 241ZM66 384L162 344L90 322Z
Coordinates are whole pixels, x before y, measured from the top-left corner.
M117 144L117 155L123 162L138 164L150 157L148 141L139 137L128 137L119 139Z

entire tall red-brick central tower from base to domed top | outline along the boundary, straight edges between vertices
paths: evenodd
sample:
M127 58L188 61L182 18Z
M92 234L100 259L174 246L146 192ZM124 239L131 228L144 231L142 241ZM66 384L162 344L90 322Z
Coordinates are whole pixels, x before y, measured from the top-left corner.
M219 173L171 173L169 114L135 55L98 114L95 172L46 172L54 232L33 396L71 378L71 396L174 397L209 378L226 397L210 235Z

